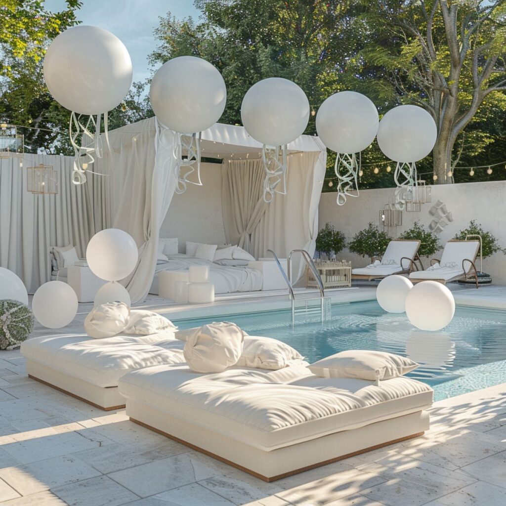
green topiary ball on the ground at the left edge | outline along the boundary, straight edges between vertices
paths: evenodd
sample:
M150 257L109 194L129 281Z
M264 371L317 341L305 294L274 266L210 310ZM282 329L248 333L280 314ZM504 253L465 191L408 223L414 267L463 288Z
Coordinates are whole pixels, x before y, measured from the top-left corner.
M34 321L26 304L11 299L0 300L0 350L25 341Z

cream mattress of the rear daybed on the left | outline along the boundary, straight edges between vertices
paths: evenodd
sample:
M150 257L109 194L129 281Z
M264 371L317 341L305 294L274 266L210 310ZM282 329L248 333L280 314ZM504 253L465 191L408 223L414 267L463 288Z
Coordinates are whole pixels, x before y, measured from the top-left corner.
M150 335L91 339L86 334L50 335L21 344L22 355L98 387L116 387L128 371L185 361L185 343L168 330Z

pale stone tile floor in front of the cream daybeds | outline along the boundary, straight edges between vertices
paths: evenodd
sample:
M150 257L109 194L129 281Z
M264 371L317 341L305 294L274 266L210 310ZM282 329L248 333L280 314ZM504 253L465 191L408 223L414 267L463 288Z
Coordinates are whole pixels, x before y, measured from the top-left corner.
M447 399L425 436L265 483L32 381L0 352L2 506L503 506L506 384Z

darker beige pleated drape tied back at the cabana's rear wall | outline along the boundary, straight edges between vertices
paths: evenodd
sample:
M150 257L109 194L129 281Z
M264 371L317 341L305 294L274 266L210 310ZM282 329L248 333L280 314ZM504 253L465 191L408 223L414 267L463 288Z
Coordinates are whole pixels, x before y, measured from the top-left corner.
M230 244L256 255L251 234L255 232L268 204L264 201L262 160L231 160L222 167L223 223Z

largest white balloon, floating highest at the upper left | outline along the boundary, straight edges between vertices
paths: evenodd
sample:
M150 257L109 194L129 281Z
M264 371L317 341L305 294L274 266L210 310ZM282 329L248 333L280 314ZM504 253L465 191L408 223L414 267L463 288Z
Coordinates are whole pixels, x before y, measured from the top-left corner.
M116 35L96 26L74 26L60 33L44 58L49 92L79 114L114 109L132 85L132 60Z

